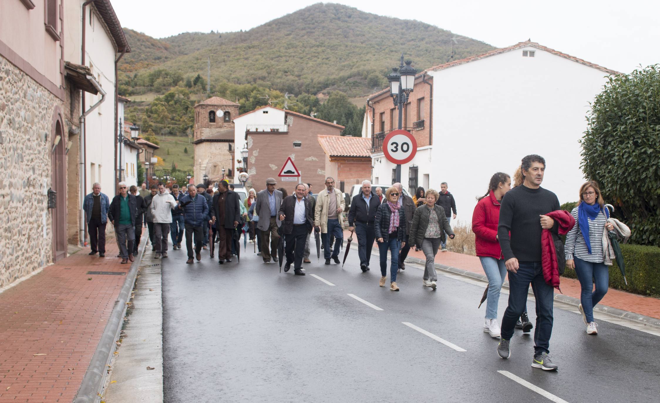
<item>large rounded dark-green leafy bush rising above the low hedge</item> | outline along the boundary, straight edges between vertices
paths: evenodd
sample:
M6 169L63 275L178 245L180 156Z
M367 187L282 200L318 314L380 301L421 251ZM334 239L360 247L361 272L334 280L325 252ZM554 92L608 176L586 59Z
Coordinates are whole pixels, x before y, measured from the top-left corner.
M632 242L660 246L660 65L609 77L580 144L585 177L622 212Z

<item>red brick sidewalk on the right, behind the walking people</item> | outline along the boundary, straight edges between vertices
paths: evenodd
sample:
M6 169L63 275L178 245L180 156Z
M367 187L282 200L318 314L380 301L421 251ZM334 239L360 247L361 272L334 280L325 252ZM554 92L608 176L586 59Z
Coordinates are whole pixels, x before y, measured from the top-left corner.
M350 232L345 231L344 239L348 239L349 235ZM353 243L355 245L358 243L356 236L353 236ZM408 256L416 257L422 260L426 259L422 251L416 252L414 249L411 249ZM462 268L463 270L467 270L469 272L484 274L484 270L481 267L479 257L476 256L463 255L462 253L454 253L449 251L438 251L438 255L436 255L436 263L456 268ZM579 299L581 288L578 280L562 277L561 288L564 295ZM554 290L554 292L555 294L559 294L557 290ZM478 302L479 301L477 301L477 303ZM660 319L660 299L658 298L645 297L644 295L631 294L629 292L610 288L599 304Z

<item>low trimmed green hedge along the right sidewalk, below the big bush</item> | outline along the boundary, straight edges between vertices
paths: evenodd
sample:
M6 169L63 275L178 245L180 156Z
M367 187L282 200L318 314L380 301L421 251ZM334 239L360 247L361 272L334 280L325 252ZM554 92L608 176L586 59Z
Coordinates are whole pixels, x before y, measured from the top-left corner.
M642 295L660 295L660 247L621 244L621 252L626 262L626 279L612 262L610 269L610 287ZM566 268L564 277L578 278L575 270Z

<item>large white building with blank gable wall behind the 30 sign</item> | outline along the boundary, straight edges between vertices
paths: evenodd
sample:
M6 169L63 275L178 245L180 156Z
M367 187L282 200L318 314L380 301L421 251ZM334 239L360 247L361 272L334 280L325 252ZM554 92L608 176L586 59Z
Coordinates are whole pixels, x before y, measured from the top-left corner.
M440 190L446 181L457 220L471 222L475 197L486 193L493 173L513 175L523 156L539 154L546 160L542 186L561 203L578 200L585 181L578 140L589 102L608 75L620 73L531 41L423 73L433 80L432 144L401 167L404 187L415 164L419 185ZM394 165L382 152L372 154L372 165L374 180L389 183Z

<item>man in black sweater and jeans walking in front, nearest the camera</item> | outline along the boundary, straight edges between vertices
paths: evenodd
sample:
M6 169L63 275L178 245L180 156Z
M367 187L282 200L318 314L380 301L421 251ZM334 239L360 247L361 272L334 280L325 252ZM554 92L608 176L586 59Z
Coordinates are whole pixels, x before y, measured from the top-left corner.
M531 283L537 308L532 367L552 371L558 366L546 354L550 352L554 290L543 278L541 233L543 230L557 232L557 223L545 214L559 210L559 200L554 193L541 187L545 173L543 157L535 154L526 156L522 160L521 171L525 181L506 193L500 206L497 238L509 271L509 306L502 318L502 335L497 352L502 358L511 356L513 328L525 311Z

